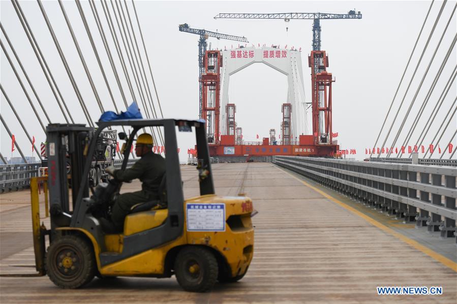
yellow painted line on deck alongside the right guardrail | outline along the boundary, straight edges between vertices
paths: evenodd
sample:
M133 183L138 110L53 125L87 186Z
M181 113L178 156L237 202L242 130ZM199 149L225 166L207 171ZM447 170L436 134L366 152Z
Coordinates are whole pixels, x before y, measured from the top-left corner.
M328 195L327 193L325 193L324 191L308 184L307 182L297 178L296 176L293 176L292 174L290 174L289 172L283 170L282 168L278 167L279 170L283 171L283 172L286 172L288 173L290 176L292 176L294 179L296 179L297 181L300 181L303 185L307 186L307 187L310 187L311 189L313 189L314 191L322 194L324 197L330 199L331 201L333 201L335 204L338 204L340 205L341 207L343 207L344 209L354 213L355 215L358 215L359 217L363 218L365 221L369 222L370 224L372 224L373 226L376 226L378 227L379 229L393 235L395 238L411 245L412 247L414 247L415 249L425 253L426 255L434 258L435 260L437 260L438 262L442 263L443 265L451 268L454 272L457 272L457 263L455 263L454 261L452 261L451 259L448 259L447 257L433 251L432 249L428 248L428 247L425 247L423 245L421 245L420 243L414 241L414 240L411 240L410 238L406 237L405 235L387 227L386 225L384 224L381 224L380 222L376 221L375 219L369 217L368 215L358 211L357 209L355 208L352 208L351 206L349 205L346 205L344 204L344 202Z

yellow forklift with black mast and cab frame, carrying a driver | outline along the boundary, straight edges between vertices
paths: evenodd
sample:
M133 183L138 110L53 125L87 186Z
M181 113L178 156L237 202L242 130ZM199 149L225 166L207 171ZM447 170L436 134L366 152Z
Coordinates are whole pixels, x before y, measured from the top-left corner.
M125 140L122 170L127 167L138 130L162 127L166 173L159 200L134 206L125 219L124 231L109 234L100 221L108 218L122 183L111 179L94 189L88 185L88 176L97 138L104 129L116 126L132 129L130 136L118 134ZM200 196L185 200L176 132L192 130L196 134ZM216 281L238 281L246 274L254 248L252 201L245 196L215 194L203 120L115 120L99 122L93 137L89 132L90 128L81 124L47 127L51 227L40 227L39 217L33 215L39 274L47 274L62 288L84 286L95 276L169 278L174 274L183 289L194 292L208 291ZM38 206L32 208L38 210ZM44 252L46 235L50 245Z

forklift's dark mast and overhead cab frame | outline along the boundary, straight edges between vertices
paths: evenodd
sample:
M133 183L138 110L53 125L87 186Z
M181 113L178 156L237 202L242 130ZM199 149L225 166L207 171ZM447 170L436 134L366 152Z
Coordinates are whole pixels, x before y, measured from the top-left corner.
M212 181L211 167L209 162L209 150L206 143L205 123L203 120L179 120L179 119L135 119L114 120L98 122L98 128L88 145L81 145L87 138L90 128L82 124L50 124L47 127L49 155L49 196L51 205L51 234L58 230L80 229L84 233L92 234L98 244L104 244L104 233L98 220L88 214L88 174L90 164L94 157L97 139L101 132L114 126L130 126L133 128L124 150L124 161L121 169L125 170L129 160L130 147L139 129L143 127L164 127L166 147L166 189L168 202L168 217L165 222L155 228L124 237L123 252L118 254L104 254L101 248L100 263L102 266L123 260L129 256L158 247L162 244L177 239L184 230L184 193L182 192L181 174L179 169L179 156L177 153L176 126L183 131L191 131L195 127L197 155L200 166L209 172L205 179L200 180L200 195L215 194ZM68 147L62 140L62 136L68 136ZM79 144L78 144L79 143ZM52 146L52 148L50 147ZM72 160L72 190L73 190L73 214L69 211L68 191L66 192L67 176L63 170L66 153ZM54 153L52 153L54 152ZM86 154L86 155L84 155ZM78 165L78 164L84 164ZM80 181L80 182L78 182ZM64 194L66 192L66 194ZM77 195L76 195L77 193ZM58 205L58 206L56 206ZM61 212L52 212L54 209ZM63 219L63 220L62 220ZM67 223L67 224L62 224ZM85 232L86 231L86 232ZM91 237L87 235L87 237Z

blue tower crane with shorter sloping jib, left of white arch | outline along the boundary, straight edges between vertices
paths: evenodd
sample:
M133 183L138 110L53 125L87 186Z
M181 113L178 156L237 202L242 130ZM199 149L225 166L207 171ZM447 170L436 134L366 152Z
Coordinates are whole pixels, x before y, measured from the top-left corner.
M246 39L244 36L239 37L239 36L233 36L233 35L227 35L227 34L222 34L217 31L209 31L206 29L199 29L199 28L191 28L189 27L189 24L184 23L184 24L179 24L179 31L184 31L188 33L192 33L195 35L200 35L200 40L198 41L198 80L199 80L199 86L200 86L200 92L199 92L199 102L200 102L200 109L199 109L199 117L202 117L202 105L203 105L203 97L202 97L202 83L201 83L201 76L205 72L205 67L203 65L203 57L205 56L206 52L206 39L209 37L215 37L218 40L219 39L226 39L226 40L234 40L234 41L241 41L241 42L249 42L248 39Z

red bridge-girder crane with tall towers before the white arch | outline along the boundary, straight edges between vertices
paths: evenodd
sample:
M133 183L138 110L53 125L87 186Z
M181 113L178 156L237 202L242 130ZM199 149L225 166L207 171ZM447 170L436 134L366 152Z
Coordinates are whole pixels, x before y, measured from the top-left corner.
M204 57L205 73L201 77L203 88L202 118L206 121L208 148L211 156L227 156L238 159L252 156L301 155L334 156L339 146L332 141L331 83L332 75L325 71L328 56L325 51L312 51L308 57L312 68L312 117L313 134L292 134L292 105L281 107L281 145L275 136L264 138L262 142L245 142L242 130L236 127L235 105L227 104L227 134L220 134L220 87L222 54L218 50L206 51ZM293 136L295 135L295 140Z

